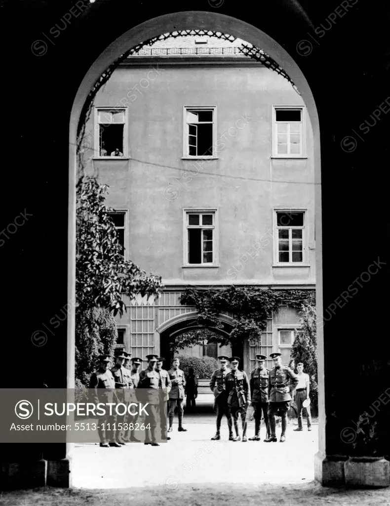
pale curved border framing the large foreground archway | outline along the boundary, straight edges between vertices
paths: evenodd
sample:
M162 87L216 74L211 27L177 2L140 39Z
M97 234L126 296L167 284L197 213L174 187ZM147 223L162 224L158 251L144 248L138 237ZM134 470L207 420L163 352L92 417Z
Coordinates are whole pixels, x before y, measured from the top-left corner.
M76 183L77 174L77 160L76 150L77 145L77 124L80 118L82 108L85 100L88 97L94 83L102 74L102 72L110 65L116 58L122 55L129 47L136 46L140 41L157 36L161 33L170 32L174 30L193 29L194 26L202 26L203 29L221 31L231 33L234 36L247 40L250 44L262 48L269 54L279 65L285 69L287 74L291 77L296 87L298 88L302 99L304 100L307 111L312 123L313 129L313 151L314 151L314 174L315 182L320 182L320 141L319 141L319 123L317 111L314 103L312 93L305 76L299 70L293 59L278 45L278 43L269 37L267 34L258 30L252 25L244 23L238 19L214 13L191 12L191 13L177 13L167 16L161 16L149 20L123 34L119 37L101 57L91 67L88 74L83 79L78 93L76 95L70 122L70 188L69 188L69 298L73 297L74 293L74 273L75 273L75 246L74 246L74 223L75 223L75 193L74 187ZM321 222L320 222L320 189L319 185L316 186L316 286L317 286L317 305L322 307L321 295ZM191 328L191 327L189 327ZM179 332L180 327L170 329L169 332ZM163 332L168 332L168 329L163 330L160 334L160 343L165 342ZM323 342L321 329L318 334L318 347L319 347L319 394L323 403ZM163 355L163 349L160 348L160 353ZM74 314L69 315L68 323L68 387L74 386ZM320 404L320 429L319 440L324 448L324 435L325 435L325 412L324 405ZM70 449L70 448L68 448Z

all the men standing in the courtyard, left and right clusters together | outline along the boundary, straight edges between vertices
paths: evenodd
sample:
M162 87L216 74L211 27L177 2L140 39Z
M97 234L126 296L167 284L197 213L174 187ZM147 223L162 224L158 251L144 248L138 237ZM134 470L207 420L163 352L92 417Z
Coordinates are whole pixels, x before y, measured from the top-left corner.
M221 422L225 415L228 419L229 440L247 441L248 408L253 407L255 420L255 434L249 441L261 441L260 426L262 413L267 428L265 442L277 441L276 415L281 417L282 432L280 442L286 440L288 424L288 410L292 396L298 407L298 428L302 430L302 406L309 399L309 375L303 372L303 364L297 364L298 374L289 367L282 365L281 353L272 353L270 358L274 367L265 367L264 355L256 355L256 367L250 373L250 379L244 370L238 368L239 357L218 357L220 368L216 369L210 380L210 389L214 394L216 410L216 433L212 440L221 439ZM94 402L117 402L129 404L128 390L147 389L150 416L145 419L146 424L144 444L159 446L157 442L157 420L160 421L161 440L170 440L167 433L172 432L175 409L178 409L180 432L186 432L183 427L183 403L186 393L186 378L184 371L179 368L178 358L172 360L169 371L162 368L163 357L147 355L148 366L141 369L142 359L131 358L131 354L122 352L116 357L114 367L109 368L111 357L101 355L99 367L91 375L90 391L93 392ZM131 364L130 364L131 362ZM231 368L227 366L230 362ZM295 391L296 390L296 391ZM156 393L150 396L150 393ZM157 393L161 395L157 395ZM131 393L131 392L130 392ZM136 399L134 397L134 399ZM308 430L311 430L310 408L306 407L308 416ZM167 416L166 416L167 414ZM242 437L240 436L238 419L241 418ZM121 447L128 442L141 442L136 437L137 415L129 417L123 415L106 415L98 420L98 433L101 447ZM167 426L167 419L169 426ZM140 419L141 421L141 419ZM235 436L233 434L233 427ZM137 432L140 434L140 432Z

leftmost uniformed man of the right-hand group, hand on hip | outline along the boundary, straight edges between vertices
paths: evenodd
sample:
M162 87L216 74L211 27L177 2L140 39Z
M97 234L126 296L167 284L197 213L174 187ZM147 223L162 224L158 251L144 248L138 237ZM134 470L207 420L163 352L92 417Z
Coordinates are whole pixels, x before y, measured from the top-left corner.
M228 419L229 440L233 441L233 420L228 407L228 393L225 383L225 377L231 369L226 365L229 360L228 357L221 355L218 357L218 360L220 361L220 368L212 373L210 379L210 389L214 394L214 406L216 408L216 433L211 439L213 441L221 439L221 421L225 415Z

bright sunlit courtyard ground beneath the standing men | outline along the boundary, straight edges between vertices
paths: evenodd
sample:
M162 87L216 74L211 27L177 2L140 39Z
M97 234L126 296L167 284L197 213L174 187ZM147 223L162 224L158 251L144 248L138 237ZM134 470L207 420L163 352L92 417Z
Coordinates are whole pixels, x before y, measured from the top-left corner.
M294 420L296 423L296 420ZM226 419L221 441L210 413L187 415L188 432L178 432L177 418L171 440L159 447L129 443L121 448L77 444L72 455L72 486L118 489L162 486L175 491L187 484L302 483L314 479L314 454L318 449L318 425L308 432L293 432L290 424L285 443L228 441ZM254 434L249 423L248 436ZM280 435L280 427L277 428ZM135 465L136 462L136 465Z

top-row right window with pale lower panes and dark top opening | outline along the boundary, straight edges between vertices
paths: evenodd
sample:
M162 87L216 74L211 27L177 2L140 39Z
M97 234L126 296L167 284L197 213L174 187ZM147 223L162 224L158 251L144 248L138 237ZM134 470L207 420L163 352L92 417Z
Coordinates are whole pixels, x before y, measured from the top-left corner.
M273 107L273 156L305 156L305 108Z

